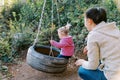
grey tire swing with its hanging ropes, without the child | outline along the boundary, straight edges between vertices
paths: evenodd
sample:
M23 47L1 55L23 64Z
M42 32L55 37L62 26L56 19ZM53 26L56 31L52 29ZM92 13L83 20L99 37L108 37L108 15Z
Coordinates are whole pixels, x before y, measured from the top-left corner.
M66 70L68 60L64 58L56 57L60 53L60 51L57 48L53 48L52 46L35 45L38 41L38 35L40 32L45 4L46 4L46 0L44 0L44 4L43 4L41 18L38 26L38 33L34 41L34 44L30 46L28 49L26 62L32 68L39 71L43 71L47 73L61 73ZM53 6L52 6L52 10L53 10ZM52 14L52 20L53 20L53 14Z

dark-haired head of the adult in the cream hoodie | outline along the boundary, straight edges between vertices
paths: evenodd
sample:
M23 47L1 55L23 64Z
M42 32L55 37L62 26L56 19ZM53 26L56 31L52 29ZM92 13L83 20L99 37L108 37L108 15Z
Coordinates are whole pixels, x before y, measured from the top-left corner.
M85 12L85 26L87 27L87 29L90 26L93 27L94 25L97 25L102 21L107 22L107 15L104 8L90 8ZM88 30L90 31L91 29Z

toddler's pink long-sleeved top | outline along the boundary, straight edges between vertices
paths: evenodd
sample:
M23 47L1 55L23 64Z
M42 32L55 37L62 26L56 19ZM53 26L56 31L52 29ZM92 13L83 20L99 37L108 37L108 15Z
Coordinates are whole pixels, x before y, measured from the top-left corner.
M63 56L72 56L74 54L74 42L72 36L62 38L60 42L52 41L53 46L61 48L60 54Z

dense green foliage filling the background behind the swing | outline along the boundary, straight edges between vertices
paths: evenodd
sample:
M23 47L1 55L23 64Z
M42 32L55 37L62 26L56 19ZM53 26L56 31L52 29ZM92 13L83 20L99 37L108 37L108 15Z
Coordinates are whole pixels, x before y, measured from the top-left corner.
M38 31L39 19L44 0L27 0L27 3L17 2L12 7L5 7L0 18L0 59L9 62L13 60L19 51L27 49L33 44ZM57 29L72 24L70 35L73 36L76 51L85 45L88 31L84 27L84 12L90 7L105 7L108 21L117 22L120 27L120 12L112 0L53 0L53 24L52 24L52 0L47 0L43 21L37 44L50 45L51 36L59 41Z

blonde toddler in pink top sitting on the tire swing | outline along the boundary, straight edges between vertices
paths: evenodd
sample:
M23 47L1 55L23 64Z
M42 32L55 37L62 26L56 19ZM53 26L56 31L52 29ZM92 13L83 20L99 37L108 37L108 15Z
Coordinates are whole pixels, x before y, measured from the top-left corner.
M70 24L58 29L58 36L60 42L50 40L51 45L61 48L60 54L57 56L59 58L69 59L74 54L74 42L72 36L69 35Z

